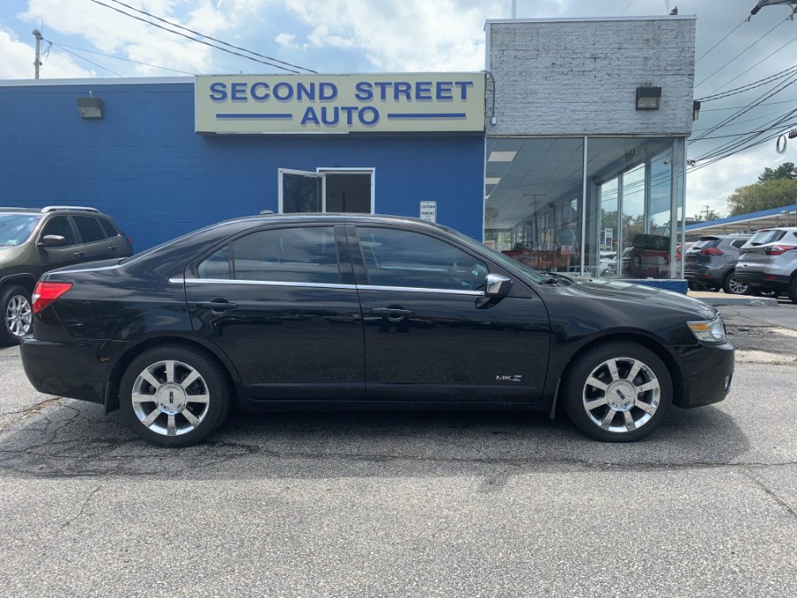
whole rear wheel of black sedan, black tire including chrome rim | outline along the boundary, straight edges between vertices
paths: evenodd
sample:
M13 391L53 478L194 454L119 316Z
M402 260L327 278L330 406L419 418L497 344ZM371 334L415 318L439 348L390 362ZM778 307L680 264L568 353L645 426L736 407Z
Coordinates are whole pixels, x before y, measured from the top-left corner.
M152 400L141 400L144 396ZM142 353L121 379L122 414L136 434L161 447L188 447L207 438L227 417L231 402L221 366L184 346Z

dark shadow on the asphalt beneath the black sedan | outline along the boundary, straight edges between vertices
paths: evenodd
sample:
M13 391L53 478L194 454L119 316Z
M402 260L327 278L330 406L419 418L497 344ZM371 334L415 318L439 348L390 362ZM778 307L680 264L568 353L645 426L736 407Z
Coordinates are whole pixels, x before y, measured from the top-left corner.
M561 417L496 411L234 412L196 447L149 445L119 412L61 400L0 435L0 474L148 478L487 475L563 468L727 465L748 442L720 408L673 408L631 444L587 439Z

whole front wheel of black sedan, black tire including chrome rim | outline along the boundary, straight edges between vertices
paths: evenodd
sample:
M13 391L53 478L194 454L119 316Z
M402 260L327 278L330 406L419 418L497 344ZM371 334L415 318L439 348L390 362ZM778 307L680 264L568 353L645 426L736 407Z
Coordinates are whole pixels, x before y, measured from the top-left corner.
M615 364L616 377L610 362ZM636 375L629 381L635 364L639 364ZM591 379L594 382L589 383ZM656 385L637 390L646 384ZM600 389L600 385L607 388ZM565 372L561 392L570 421L590 438L603 442L645 438L662 424L672 404L667 366L653 351L637 343L607 342L588 348Z

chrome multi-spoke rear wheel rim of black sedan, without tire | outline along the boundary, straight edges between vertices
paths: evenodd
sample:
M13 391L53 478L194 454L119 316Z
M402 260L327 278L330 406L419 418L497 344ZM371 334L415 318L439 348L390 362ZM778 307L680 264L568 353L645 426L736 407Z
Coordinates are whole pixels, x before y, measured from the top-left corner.
M164 360L135 377L131 400L135 416L148 430L181 436L202 423L211 396L197 369L182 361Z

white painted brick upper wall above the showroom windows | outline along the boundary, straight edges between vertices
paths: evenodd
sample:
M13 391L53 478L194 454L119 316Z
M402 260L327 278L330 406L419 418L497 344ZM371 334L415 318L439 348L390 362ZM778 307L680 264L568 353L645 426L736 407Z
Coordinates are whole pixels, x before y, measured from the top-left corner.
M491 20L486 29L488 136L691 133L694 16ZM657 111L636 109L647 85L662 88Z

